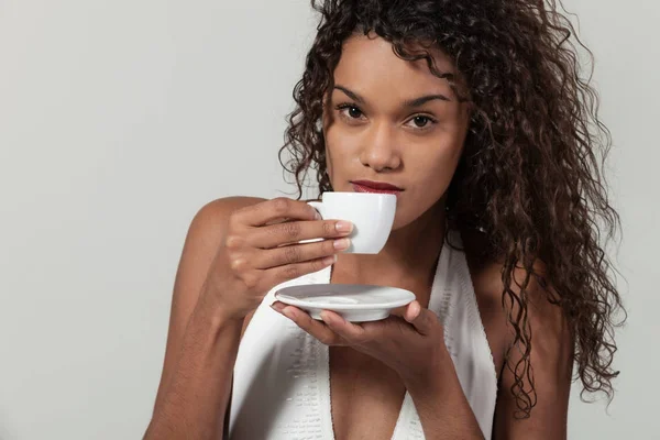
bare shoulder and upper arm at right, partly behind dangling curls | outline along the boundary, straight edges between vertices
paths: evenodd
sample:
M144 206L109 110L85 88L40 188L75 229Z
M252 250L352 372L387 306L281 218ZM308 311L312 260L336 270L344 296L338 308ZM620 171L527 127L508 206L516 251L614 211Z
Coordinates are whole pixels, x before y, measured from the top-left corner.
M474 246L479 245L479 240L474 240L474 238L468 239L466 250L474 250ZM470 252L468 253L470 254ZM468 260L480 312L488 342L494 349L493 358L499 359L499 362L496 360L499 391L494 438L565 438L573 337L570 322L562 308L553 304L557 293L552 280L548 278L547 266L543 262L537 261L532 266L531 274L528 274L521 266L515 267L512 272L512 283L505 286L503 261L480 258L474 256L479 255L477 252L471 254L472 256L469 256ZM522 285L527 285L525 292L520 287ZM509 294L516 299L512 300L509 294L505 294L506 288L510 289ZM527 304L527 310L526 316L520 320L519 328L524 327L521 322L526 320L527 328L532 336L531 343L522 351L508 351L508 348L514 344L516 336L508 314L512 312L514 319L518 316L519 299L522 296ZM531 376L522 374L521 377L516 377L513 370L505 367L505 364L508 362L514 370L520 370L522 364L519 362L525 351L528 351L529 354ZM508 358L505 358L507 353ZM518 371L518 374L521 373L521 370ZM534 377L532 383L529 377ZM521 387L529 392L532 385L536 396L530 396L532 397L530 402L535 403L531 415L529 418L519 419L516 417L519 402L516 400L512 389Z

